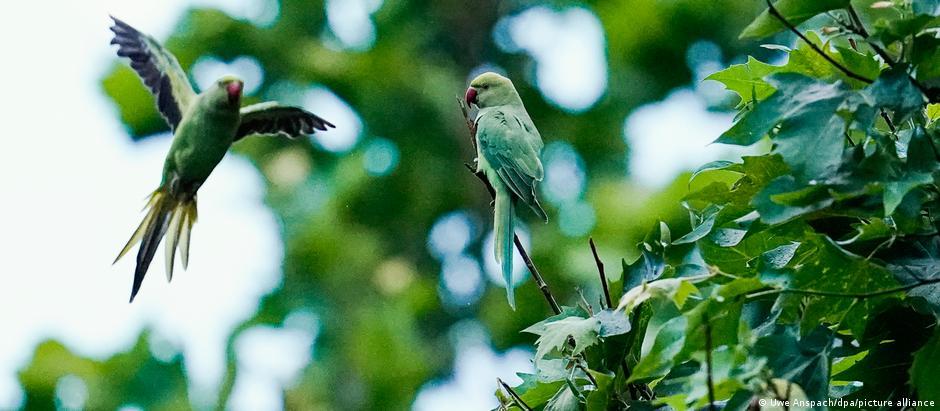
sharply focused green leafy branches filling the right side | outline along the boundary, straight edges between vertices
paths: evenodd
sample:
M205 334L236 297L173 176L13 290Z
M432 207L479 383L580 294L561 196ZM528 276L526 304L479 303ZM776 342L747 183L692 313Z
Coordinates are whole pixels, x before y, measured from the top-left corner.
M940 10L870 3L779 0L747 26L798 36L767 46L783 64L710 77L740 97L718 142L769 152L693 175L731 182L685 196L688 234L655 226L613 310L585 301L528 328L538 372L503 408L940 401ZM603 335L615 317L631 326Z

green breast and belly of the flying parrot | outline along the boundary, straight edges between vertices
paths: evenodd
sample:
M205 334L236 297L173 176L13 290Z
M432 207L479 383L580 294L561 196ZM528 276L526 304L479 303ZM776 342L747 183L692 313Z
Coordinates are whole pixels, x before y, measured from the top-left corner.
M239 125L237 110L213 109L199 100L180 121L163 165L163 185L191 195L225 157Z

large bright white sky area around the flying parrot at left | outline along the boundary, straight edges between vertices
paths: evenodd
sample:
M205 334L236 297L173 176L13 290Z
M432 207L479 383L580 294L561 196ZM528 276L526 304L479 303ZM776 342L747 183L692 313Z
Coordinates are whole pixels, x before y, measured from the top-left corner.
M208 3L208 2L201 2ZM0 408L36 343L107 358L155 327L183 350L194 401L211 403L230 329L280 279L282 250L261 179L228 156L200 190L188 271L168 286L162 250L134 304L134 255L111 266L159 184L170 139L134 144L99 79L115 61L108 14L164 38L186 2L17 2L0 13ZM28 39L28 41L26 41ZM9 116L9 117L8 117ZM9 338L12 336L12 338Z

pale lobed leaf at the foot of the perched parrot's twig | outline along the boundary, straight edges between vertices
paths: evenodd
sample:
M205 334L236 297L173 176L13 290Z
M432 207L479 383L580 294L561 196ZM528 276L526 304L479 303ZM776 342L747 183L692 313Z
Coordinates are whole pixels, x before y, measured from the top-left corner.
M535 341L537 346L535 360L539 361L552 350L563 350L568 344L569 337L574 340L571 355L580 354L585 348L597 343L600 326L600 321L594 317L565 317L560 320L539 322L522 332L539 336Z

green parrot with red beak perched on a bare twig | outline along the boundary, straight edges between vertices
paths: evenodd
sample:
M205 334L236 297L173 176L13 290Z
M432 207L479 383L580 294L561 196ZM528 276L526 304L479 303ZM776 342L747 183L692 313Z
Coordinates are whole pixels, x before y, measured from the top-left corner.
M480 110L476 125L477 172L483 172L496 192L494 204L494 251L506 280L509 306L515 309L512 284L513 209L518 202L548 222L539 204L535 186L544 171L539 156L542 137L522 105L512 81L496 73L483 73L470 82L467 105Z

